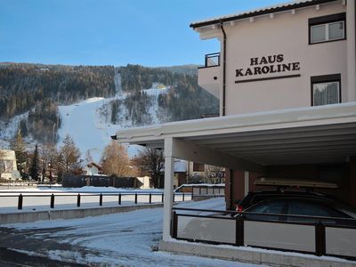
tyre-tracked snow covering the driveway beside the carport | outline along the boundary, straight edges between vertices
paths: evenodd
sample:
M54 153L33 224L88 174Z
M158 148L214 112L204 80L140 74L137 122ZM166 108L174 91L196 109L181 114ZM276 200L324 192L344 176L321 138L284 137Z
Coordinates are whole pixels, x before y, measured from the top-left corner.
M224 199L187 202L180 206L222 209ZM73 246L70 251L52 247L41 254L75 263L103 266L256 266L198 256L154 252L152 248L157 247L158 241L162 239L162 223L163 209L155 208L75 220L9 224L5 227L23 232L30 231L31 239L44 242L55 240L58 244L70 244ZM83 253L84 250L86 253ZM33 255L34 251L29 251L28 254Z

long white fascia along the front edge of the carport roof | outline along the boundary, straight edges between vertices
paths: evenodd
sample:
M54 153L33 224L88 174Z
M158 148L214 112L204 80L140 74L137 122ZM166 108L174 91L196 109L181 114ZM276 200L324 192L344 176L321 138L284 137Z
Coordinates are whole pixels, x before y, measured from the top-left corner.
M243 133L356 122L356 101L333 105L283 109L226 117L209 117L164 125L120 129L118 142L145 143L166 137L192 137L211 134Z

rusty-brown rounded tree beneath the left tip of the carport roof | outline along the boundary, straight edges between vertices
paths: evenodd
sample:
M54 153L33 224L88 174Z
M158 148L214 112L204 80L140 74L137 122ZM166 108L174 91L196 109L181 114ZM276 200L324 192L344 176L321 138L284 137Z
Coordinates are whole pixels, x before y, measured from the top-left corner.
M107 145L101 156L103 174L127 177L132 175L130 160L125 147L115 141Z

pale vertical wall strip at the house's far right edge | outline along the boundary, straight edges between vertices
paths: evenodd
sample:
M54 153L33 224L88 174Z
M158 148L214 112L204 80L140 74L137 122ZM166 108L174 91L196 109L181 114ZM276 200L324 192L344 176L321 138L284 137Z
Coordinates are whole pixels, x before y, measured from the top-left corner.
M355 0L347 1L347 101L356 101Z

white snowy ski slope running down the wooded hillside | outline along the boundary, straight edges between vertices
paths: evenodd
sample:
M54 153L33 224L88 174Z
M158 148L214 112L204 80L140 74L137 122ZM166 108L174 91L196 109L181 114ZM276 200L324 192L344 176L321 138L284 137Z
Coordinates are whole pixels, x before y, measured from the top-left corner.
M157 125L161 123L158 118L158 95L166 93L168 88L157 88L154 84L147 90L143 90L150 95L152 102L150 105L147 117L150 117L150 125ZM133 127L133 122L127 117L127 110L124 105L119 109L118 117L120 118L117 125L109 122L109 116L103 116L103 109L109 109L109 102L115 99L125 100L128 96L126 93L117 92L113 98L90 98L69 106L60 106L60 114L62 118L62 125L58 134L60 135L59 146L65 138L66 134L73 137L77 147L82 153L82 158L85 159L85 153L89 150L94 161L99 162L101 152L104 147L109 144L111 135L116 134L120 128ZM104 112L105 113L105 112ZM106 110L106 114L110 110ZM134 157L140 150L139 146L127 146L130 157Z

